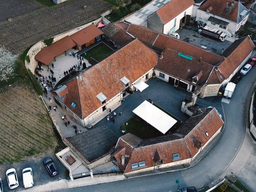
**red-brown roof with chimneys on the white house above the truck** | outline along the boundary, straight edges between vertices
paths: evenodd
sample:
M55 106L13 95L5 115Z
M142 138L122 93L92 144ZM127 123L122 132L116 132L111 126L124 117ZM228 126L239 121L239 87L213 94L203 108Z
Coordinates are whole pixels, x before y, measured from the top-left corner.
M231 6L231 3L233 3L234 6ZM227 5L228 8L226 8ZM199 10L205 12L210 10L210 13L213 15L237 22L239 16L238 7L239 2L234 0L207 0L201 7L199 7Z

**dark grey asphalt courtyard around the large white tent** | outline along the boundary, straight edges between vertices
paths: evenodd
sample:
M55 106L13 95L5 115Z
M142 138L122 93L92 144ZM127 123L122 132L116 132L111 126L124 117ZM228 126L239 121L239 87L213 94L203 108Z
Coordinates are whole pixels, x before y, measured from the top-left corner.
M148 88L142 92L137 91L134 92L134 94L128 94L118 108L115 110L112 109L112 114L116 112L117 115L115 117L115 122L112 122L111 120L108 121L106 117L95 124L94 127L105 125L116 135L122 136L120 126L125 125L126 122L129 124L129 120L135 115L132 111L147 99L151 99L158 106L164 108L167 112L173 114L182 122L189 118L188 115L184 114L180 110L182 102L186 98L186 94L189 94L187 91L180 88L175 88L174 86L158 78L152 78L146 83L149 85ZM204 99L198 98L197 104L199 107L215 107L218 112L222 114L220 100L221 98L217 96L207 97ZM118 114L119 111L122 112L121 116ZM111 117L112 114L109 114L109 116ZM141 123L141 125L143 126L143 123Z

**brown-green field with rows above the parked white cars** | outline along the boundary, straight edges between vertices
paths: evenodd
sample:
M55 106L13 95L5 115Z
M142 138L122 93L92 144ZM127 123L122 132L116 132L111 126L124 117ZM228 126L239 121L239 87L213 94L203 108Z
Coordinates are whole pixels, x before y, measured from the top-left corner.
M33 88L12 85L0 93L0 164L56 146L52 122Z

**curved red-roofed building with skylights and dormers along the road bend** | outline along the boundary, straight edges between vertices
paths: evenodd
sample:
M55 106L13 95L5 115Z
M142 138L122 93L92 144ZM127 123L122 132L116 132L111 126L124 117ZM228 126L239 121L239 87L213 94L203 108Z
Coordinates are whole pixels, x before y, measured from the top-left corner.
M130 133L120 137L113 156L124 173L188 164L211 144L223 124L215 108L200 108L173 134L146 140Z

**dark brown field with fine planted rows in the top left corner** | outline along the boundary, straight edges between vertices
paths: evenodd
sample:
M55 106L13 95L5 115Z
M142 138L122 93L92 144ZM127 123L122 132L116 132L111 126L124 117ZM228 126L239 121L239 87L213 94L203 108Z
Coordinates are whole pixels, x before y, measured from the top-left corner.
M0 1L3 2L0 3L0 12L8 10L12 1ZM12 22L1 22L0 17L0 44L13 53L21 53L40 40L100 18L102 12L112 8L111 4L103 0L68 0L53 7L40 6L35 0L17 2L20 6L14 3L12 8L16 9L9 11L9 14L14 14ZM87 6L86 11L83 10L84 6ZM24 8L24 11L19 8Z

